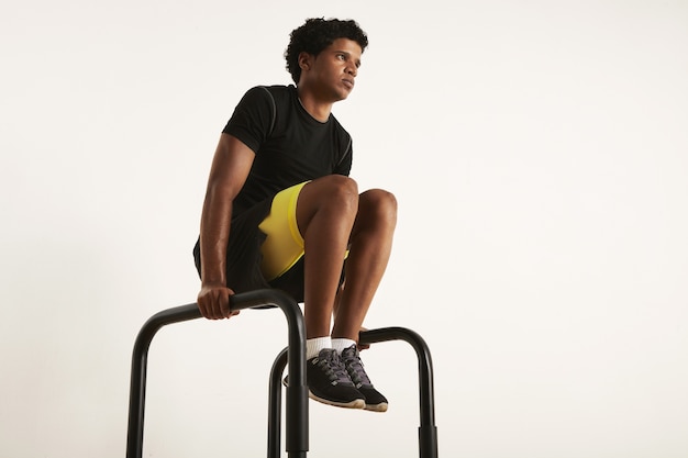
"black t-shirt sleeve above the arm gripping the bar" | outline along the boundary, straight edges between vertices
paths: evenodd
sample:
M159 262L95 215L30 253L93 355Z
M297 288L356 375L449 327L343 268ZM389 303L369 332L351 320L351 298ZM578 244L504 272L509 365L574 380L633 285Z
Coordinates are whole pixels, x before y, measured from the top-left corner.
M246 91L222 133L238 138L257 153L275 124L275 100L264 86Z

